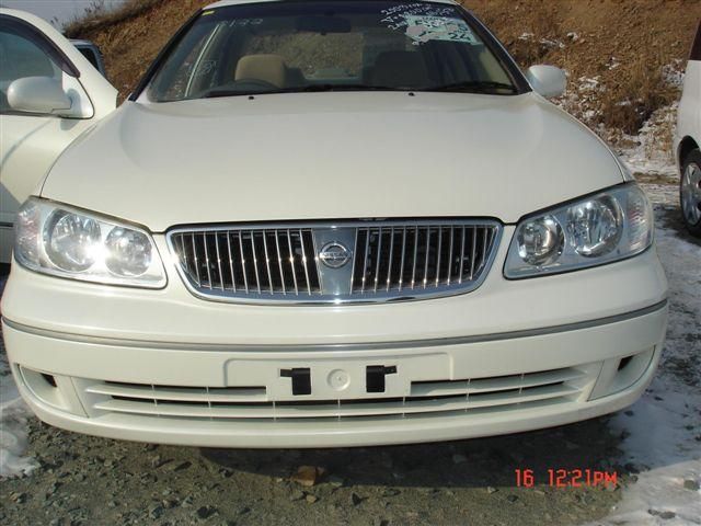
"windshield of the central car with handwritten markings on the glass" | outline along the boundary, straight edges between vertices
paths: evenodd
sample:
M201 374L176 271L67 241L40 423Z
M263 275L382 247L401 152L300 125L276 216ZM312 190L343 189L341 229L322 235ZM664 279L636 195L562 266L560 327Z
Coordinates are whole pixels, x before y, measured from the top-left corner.
M459 7L296 1L203 11L161 61L154 102L304 91L514 94L507 69Z

